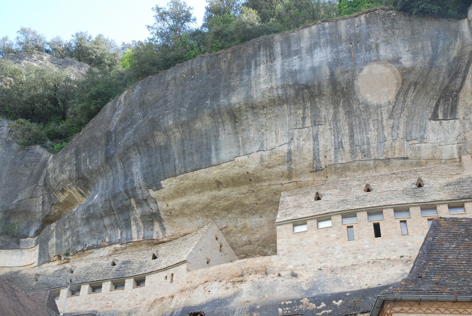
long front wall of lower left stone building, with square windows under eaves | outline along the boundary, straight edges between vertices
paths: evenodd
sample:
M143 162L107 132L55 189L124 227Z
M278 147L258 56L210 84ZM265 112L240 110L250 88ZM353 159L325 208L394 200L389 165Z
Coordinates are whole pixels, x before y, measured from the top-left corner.
M135 308L184 288L186 273L187 265L184 263L157 273L146 275L145 284L140 287L134 286L135 279L140 280L139 276L121 280L104 281L102 283L101 292L99 293L91 293L91 285L83 284L80 287L80 295L67 297L65 312ZM118 281L125 281L125 288L123 290L113 290L112 282L118 283ZM100 283L92 284L97 286L95 284ZM76 286L71 286L72 290L76 288ZM53 293L55 292L53 291ZM61 289L59 299L56 300L60 312L62 312L62 308L64 307L66 296L67 288Z

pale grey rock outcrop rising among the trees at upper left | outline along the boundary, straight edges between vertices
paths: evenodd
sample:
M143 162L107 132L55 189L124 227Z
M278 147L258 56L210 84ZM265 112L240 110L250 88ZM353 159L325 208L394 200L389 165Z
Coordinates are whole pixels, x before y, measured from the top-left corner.
M62 70L67 69L73 78L84 78L87 69L90 67L89 65L76 61L73 58L57 58L43 51L23 51L15 54L7 54L2 58L11 60L24 67L26 65L33 65L36 67L52 66Z

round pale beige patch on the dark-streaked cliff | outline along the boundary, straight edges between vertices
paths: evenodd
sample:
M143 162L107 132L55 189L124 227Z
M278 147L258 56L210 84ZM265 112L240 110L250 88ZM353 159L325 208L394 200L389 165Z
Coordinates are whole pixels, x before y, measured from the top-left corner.
M372 105L384 104L395 100L402 77L392 64L373 62L362 69L355 84L361 101Z

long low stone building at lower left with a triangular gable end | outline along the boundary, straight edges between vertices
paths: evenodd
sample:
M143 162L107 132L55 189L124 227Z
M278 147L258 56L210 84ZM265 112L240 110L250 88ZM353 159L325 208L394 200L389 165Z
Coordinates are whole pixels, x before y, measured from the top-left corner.
M129 309L185 287L191 271L238 258L219 228L207 224L174 241L59 266L3 274L28 292L51 290L60 311ZM86 308L84 308L86 307Z

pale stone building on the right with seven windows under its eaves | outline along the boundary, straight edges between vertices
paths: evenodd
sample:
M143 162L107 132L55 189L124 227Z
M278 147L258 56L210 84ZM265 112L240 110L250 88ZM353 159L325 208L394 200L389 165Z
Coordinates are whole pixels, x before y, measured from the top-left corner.
M283 192L278 259L300 266L416 257L435 216L472 217L472 158Z

